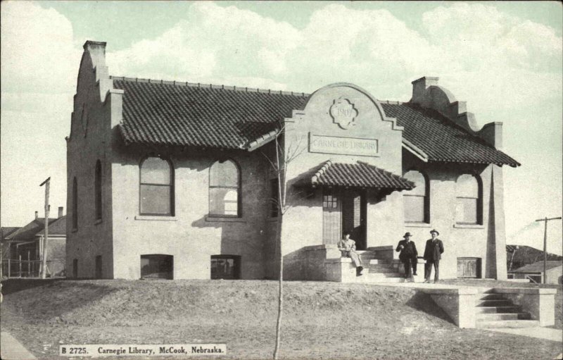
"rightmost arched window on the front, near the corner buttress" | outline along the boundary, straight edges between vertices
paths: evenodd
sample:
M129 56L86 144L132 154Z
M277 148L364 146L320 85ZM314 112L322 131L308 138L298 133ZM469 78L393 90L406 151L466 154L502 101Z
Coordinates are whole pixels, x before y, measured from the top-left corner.
M483 223L483 190L481 180L464 174L455 183L455 222L460 224Z

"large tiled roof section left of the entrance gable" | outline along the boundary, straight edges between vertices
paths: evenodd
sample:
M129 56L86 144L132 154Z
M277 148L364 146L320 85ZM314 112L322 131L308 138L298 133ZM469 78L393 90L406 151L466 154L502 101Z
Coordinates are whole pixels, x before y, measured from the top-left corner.
M125 90L120 132L126 144L246 149L302 108L307 94L148 82L113 77Z

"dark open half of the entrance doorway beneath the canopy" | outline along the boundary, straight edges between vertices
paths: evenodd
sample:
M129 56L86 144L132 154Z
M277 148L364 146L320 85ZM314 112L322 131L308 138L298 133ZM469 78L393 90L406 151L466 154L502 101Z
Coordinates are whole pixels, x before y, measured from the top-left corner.
M355 240L356 249L365 250L365 218L366 201L364 192L358 190L343 190L342 197L342 230L350 232L350 238Z

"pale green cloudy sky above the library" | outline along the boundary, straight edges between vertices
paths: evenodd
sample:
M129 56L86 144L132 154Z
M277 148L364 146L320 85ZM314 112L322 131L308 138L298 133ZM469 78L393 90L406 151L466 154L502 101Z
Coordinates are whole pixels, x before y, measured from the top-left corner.
M314 92L353 82L408 101L412 80L502 121L508 244L543 247L562 215L563 6L559 1L2 1L0 223L66 207L82 44L107 42L111 75ZM548 251L562 254L562 222Z

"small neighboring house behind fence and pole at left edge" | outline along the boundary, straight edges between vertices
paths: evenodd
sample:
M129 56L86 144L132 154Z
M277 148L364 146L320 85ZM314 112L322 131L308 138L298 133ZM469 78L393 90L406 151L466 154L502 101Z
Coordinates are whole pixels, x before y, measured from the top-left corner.
M23 228L12 231L4 237L7 252L4 263L8 259L11 263L11 275L20 275L21 271L26 276L37 276L39 274L39 260L42 259L44 246L45 218L39 218L35 211L35 218ZM65 252L66 252L66 216L63 215L63 207L58 208L58 217L49 218L49 242L47 244L47 268L49 275L65 275ZM6 265L4 265L6 266ZM4 269L4 275L7 269Z

